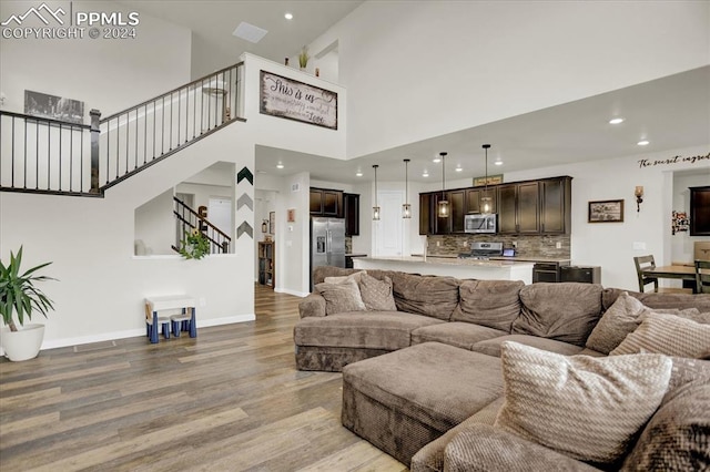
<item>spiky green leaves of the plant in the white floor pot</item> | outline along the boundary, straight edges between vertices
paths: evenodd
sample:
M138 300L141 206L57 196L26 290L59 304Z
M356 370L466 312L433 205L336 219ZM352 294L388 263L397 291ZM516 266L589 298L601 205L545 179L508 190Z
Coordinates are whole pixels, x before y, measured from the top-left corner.
M18 321L24 325L24 316L32 318L32 311L39 311L47 318L47 312L53 310L50 300L42 290L34 287L34 283L44 280L55 280L54 278L34 275L36 271L52 263L40 264L20 275L22 264L22 246L17 256L10 252L10 264L7 266L0 260L0 314L2 321L10 327L10 331L17 331L12 314L17 311Z

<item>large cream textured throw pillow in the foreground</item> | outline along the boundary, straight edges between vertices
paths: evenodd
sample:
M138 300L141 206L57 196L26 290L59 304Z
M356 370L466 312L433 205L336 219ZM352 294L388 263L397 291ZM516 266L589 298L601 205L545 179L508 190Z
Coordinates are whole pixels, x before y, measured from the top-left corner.
M661 355L561 356L506 341L496 425L574 459L621 458L660 404L672 361Z

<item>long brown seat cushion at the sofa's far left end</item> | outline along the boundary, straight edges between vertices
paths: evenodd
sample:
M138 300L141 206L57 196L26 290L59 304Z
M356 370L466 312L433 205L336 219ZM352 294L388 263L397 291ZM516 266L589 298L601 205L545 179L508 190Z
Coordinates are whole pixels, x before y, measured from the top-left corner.
M410 334L443 322L399 311L352 311L301 319L294 327L296 346L329 346L395 350L410 343Z

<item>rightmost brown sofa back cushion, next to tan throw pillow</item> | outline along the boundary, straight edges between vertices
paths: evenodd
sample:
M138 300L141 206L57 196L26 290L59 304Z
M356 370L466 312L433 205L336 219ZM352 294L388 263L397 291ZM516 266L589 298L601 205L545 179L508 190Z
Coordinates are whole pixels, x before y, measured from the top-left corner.
M601 285L547 284L520 289L520 316L513 332L556 339L584 347L601 317Z

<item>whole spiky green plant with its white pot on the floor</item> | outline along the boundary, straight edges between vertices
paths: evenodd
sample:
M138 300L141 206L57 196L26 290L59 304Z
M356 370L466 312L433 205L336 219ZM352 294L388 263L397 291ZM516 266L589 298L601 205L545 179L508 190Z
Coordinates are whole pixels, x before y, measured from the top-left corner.
M2 328L1 340L4 355L12 361L33 359L42 347L44 325L24 326L26 315L28 320L34 311L47 318L47 312L54 309L52 300L34 286L38 281L54 280L36 274L52 263L40 264L20 275L21 264L21 246L17 256L10 252L10 263L7 266L0 260L0 314L7 326ZM17 320L23 329L18 329L13 312L17 312Z

